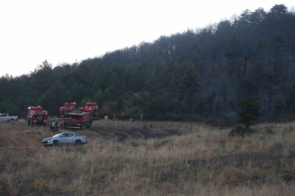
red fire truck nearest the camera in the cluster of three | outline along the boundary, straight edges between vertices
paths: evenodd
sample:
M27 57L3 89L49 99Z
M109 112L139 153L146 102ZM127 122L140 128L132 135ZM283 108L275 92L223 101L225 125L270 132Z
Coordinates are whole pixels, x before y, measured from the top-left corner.
M84 110L84 111L83 111ZM81 108L81 111L68 112L68 117L70 120L69 128L75 129L86 129L92 124L91 110Z

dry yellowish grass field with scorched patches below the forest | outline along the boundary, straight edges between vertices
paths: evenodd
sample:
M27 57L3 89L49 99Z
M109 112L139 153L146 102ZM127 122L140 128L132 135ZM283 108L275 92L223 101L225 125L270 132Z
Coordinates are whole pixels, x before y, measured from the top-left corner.
M0 195L294 195L295 123L252 128L96 120L74 131L88 144L45 148L48 127L1 123Z

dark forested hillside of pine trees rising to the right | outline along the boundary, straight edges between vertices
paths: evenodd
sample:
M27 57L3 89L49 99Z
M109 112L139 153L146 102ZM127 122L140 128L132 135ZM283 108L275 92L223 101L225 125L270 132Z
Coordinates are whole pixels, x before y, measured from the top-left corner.
M101 115L198 120L235 117L240 99L257 97L272 120L295 112L294 83L295 12L275 5L79 63L45 60L28 75L6 74L0 112L24 117L41 105L58 115L65 102L94 101Z

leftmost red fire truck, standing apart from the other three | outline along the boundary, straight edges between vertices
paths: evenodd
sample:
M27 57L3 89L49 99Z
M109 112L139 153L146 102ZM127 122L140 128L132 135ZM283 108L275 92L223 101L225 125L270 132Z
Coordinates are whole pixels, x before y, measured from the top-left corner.
M44 111L42 107L29 106L28 109L26 109L26 112L28 114L27 123L31 127L34 124L40 124L40 125L47 124L48 112Z

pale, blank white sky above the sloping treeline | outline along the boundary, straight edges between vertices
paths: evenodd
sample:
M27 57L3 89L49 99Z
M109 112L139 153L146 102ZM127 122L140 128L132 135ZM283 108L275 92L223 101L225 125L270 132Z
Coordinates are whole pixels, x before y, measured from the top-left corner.
M0 76L33 71L47 59L72 64L161 35L204 27L243 10L285 1L0 1Z

